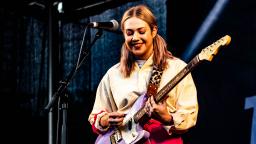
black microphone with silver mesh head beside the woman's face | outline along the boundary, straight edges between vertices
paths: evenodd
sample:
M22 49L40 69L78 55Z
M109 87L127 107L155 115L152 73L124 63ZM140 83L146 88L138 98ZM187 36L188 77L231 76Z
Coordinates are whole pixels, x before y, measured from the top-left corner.
M90 22L87 26L91 28L115 31L118 29L119 24L116 20L113 19L110 22Z

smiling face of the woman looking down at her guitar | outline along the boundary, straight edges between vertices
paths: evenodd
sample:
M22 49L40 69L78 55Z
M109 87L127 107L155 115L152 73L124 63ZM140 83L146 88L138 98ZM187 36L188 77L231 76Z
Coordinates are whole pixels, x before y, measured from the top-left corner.
M124 22L125 44L138 59L148 59L153 53L153 38L157 28L151 31L149 25L137 18L131 17Z

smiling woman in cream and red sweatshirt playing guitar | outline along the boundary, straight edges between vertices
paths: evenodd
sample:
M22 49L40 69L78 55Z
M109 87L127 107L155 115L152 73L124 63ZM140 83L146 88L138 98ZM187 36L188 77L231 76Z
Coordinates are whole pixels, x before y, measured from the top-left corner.
M167 50L165 40L157 33L156 18L147 6L129 8L122 17L121 29L125 42L120 62L102 78L89 116L94 132L103 136L124 125L125 116L136 100L147 92L153 66L163 70L158 91L186 66ZM149 133L143 143L181 144L180 134L196 124L197 91L191 74L167 95L164 101L157 103L149 97L144 103L150 119L141 124ZM121 137L125 139L122 132Z

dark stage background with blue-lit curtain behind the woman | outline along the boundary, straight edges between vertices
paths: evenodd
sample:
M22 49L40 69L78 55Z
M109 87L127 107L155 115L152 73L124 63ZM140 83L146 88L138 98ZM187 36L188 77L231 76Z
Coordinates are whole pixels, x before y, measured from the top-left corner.
M221 1L221 0L220 0ZM224 1L224 0L223 0ZM63 2L63 11L56 3ZM197 125L184 135L189 144L249 144L256 96L256 2L226 0L212 25L207 28L193 54L185 58L190 44L217 0L9 0L0 6L0 96L2 143L49 143L60 139L62 123L56 102L49 126L42 109L59 81L67 79L77 63L85 25L90 21L120 22L123 12L136 4L147 4L158 19L159 33L169 50L189 62L203 48L224 35L229 46L211 62L193 72L198 89ZM206 27L204 27L206 28ZM83 49L93 40L96 29L88 29ZM107 69L118 62L122 35L103 31L68 85L68 143L93 143L88 116L97 85ZM250 99L249 99L250 98ZM255 129L254 129L255 131Z

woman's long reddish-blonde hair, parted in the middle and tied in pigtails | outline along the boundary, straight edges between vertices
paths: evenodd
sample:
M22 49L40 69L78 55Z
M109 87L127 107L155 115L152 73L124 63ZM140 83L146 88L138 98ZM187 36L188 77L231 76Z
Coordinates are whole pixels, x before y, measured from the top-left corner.
M156 18L151 10L145 5L138 5L131 7L125 11L121 20L121 30L123 32L124 22L131 17L137 17L145 21L149 25L151 31L153 30L153 28L157 28ZM156 65L160 69L165 69L167 67L166 60L168 58L172 58L173 56L171 52L167 50L166 41L159 34L156 34L153 39L153 51L154 65ZM120 70L124 77L130 76L135 66L134 61L135 57L128 50L127 45L123 43L120 58Z

